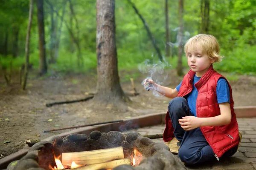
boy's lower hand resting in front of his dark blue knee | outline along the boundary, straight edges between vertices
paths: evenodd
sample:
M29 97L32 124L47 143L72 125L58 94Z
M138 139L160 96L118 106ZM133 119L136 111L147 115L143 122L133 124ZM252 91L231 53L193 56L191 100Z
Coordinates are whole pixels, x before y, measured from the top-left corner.
M201 121L200 118L195 116L185 116L182 119L179 119L179 124L183 130L192 130L200 127Z

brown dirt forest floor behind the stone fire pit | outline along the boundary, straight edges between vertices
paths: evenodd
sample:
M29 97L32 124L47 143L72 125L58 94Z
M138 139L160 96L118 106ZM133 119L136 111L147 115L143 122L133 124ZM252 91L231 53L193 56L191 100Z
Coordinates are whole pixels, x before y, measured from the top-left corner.
M136 72L119 73L121 86L125 92L132 90L131 82L127 77ZM177 77L174 70L168 72L169 77L163 85L175 88L182 77ZM95 71L90 75L63 76L52 73L47 78L31 76L26 91L20 91L15 74L12 76L12 85L7 87L0 73L0 159L22 149L26 145L25 140L43 140L49 136L69 131L44 133L44 130L120 120L166 111L170 99L155 97L151 91L146 91L141 82L147 75L136 73L138 74L134 82L140 95L130 97L133 103L129 105L128 110L120 111L113 109L111 105L95 109L92 100L52 107L45 106L46 103L85 98L87 92L95 92ZM230 84L233 88L235 106L256 105L254 96L256 76L239 75L239 80L230 81Z

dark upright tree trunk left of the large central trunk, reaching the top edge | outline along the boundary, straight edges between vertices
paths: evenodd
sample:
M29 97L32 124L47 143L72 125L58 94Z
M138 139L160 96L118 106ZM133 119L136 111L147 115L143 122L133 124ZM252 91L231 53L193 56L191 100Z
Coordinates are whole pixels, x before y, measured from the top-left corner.
M47 73L45 39L44 39L44 0L37 0L38 35L39 35L39 75Z

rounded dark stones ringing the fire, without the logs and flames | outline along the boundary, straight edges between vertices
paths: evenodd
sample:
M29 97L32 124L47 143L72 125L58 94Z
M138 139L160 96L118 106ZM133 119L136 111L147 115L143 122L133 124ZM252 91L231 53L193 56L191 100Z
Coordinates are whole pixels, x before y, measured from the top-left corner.
M53 144L54 143L54 144ZM155 143L140 133L123 134L117 131L101 133L93 131L89 137L85 134L70 134L63 139L53 136L49 141L33 145L26 156L19 161L11 162L7 170L49 170L54 167L54 153L81 152L89 150L123 147L125 158L130 158L134 148L143 154L140 165L120 165L113 170L186 170L179 158L174 156L165 144Z

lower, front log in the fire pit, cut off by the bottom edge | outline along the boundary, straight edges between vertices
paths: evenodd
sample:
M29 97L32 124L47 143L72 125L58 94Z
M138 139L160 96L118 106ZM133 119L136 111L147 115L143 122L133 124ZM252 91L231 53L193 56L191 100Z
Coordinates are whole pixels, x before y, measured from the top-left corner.
M119 160L114 160L114 161L109 161L109 162L103 162L100 164L90 164L86 165L84 167L79 167L75 168L73 170L100 170L100 169L113 169L119 165L131 165L131 160L130 159L119 159Z

